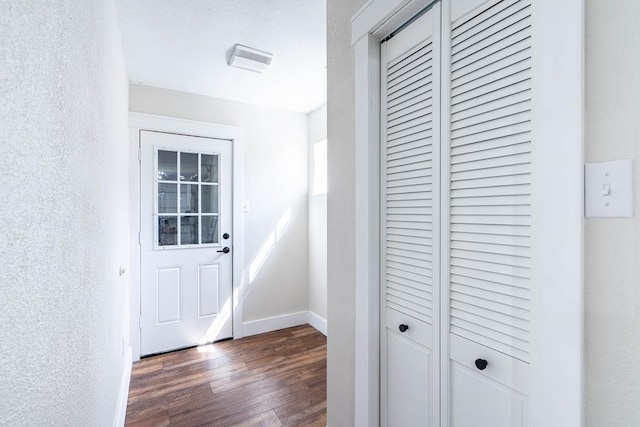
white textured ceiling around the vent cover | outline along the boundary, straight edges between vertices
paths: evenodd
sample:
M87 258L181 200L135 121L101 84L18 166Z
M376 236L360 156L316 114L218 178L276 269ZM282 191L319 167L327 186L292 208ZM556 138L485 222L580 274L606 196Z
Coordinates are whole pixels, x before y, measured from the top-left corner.
M132 83L309 112L326 103L325 0L118 0ZM274 55L229 67L236 44Z

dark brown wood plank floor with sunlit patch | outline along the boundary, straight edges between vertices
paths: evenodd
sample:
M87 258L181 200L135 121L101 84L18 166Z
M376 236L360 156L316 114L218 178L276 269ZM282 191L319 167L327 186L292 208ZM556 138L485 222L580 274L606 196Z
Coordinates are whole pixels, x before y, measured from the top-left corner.
M326 344L305 325L142 359L126 425L324 427Z

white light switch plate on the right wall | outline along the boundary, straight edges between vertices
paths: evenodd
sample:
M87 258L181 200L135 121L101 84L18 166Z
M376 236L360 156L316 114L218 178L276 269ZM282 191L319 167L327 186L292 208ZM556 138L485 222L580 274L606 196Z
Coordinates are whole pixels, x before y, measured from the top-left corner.
M633 162L588 163L584 167L584 205L587 217L633 216Z

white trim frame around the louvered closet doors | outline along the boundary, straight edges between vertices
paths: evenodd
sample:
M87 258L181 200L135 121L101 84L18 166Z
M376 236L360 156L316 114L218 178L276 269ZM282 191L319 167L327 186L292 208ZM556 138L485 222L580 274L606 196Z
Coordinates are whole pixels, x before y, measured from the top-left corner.
M352 18L358 426L379 425L380 41L434 2L369 0ZM531 425L573 427L584 424L584 0L535 0L532 19Z

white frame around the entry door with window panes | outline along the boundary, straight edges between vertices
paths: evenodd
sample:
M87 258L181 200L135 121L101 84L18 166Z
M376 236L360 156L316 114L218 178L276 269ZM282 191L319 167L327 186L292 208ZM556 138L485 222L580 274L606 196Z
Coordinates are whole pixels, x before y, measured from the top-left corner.
M242 130L235 126L156 116L153 114L129 113L129 307L130 337L133 360L140 359L140 131L156 131L180 135L226 139L233 149L233 338L242 338L242 266L244 265L244 222L242 217Z

